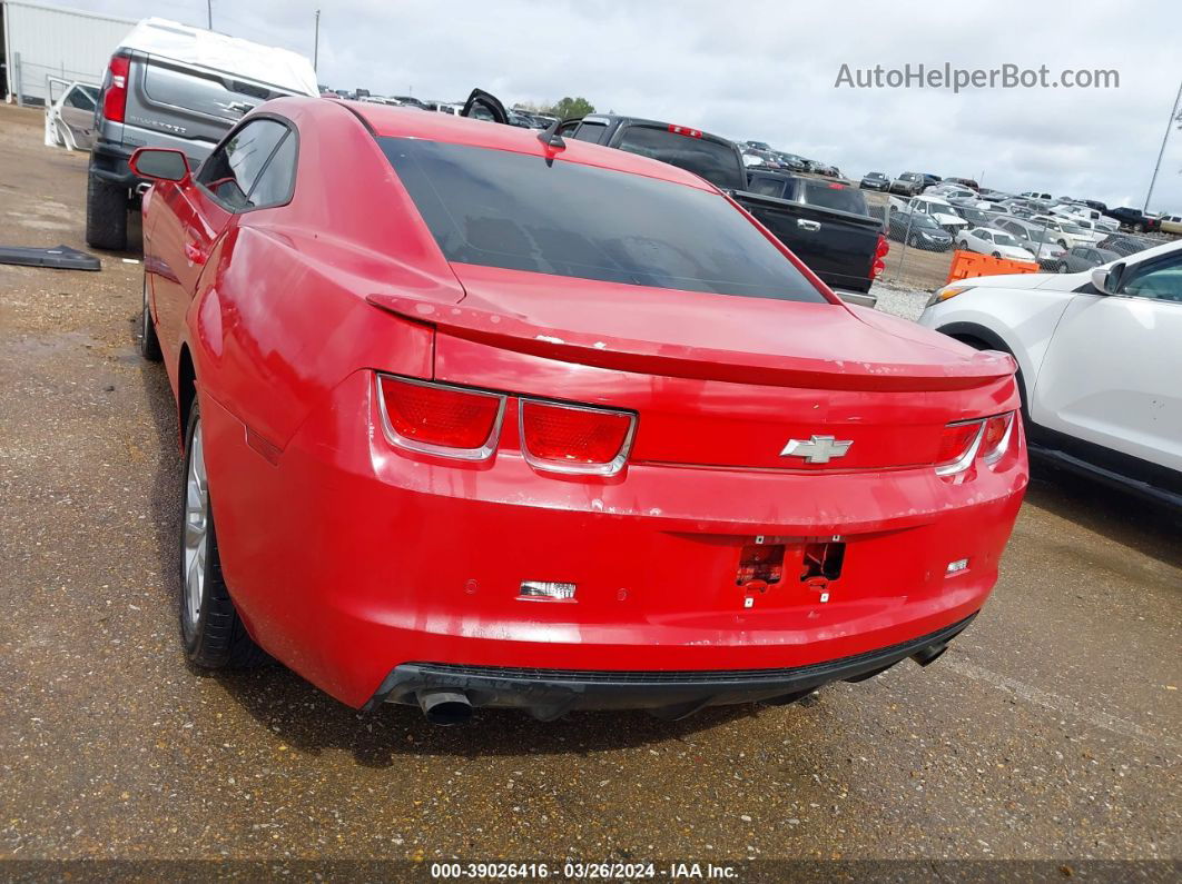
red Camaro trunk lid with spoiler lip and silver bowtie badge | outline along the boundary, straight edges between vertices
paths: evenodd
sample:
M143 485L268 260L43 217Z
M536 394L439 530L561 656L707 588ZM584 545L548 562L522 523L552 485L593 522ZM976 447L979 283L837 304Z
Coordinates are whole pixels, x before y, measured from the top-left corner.
M635 410L634 463L930 464L947 423L1004 411L1014 395L1009 356L873 310L453 269L467 292L459 303L370 301L436 326L442 380ZM813 436L853 444L827 463L785 453Z

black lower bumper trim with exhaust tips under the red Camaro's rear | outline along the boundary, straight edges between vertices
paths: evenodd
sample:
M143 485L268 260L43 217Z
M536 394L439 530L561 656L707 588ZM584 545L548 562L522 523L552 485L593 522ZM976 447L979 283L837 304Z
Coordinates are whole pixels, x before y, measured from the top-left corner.
M461 693L476 708L526 709L543 721L587 709L648 709L678 719L707 706L787 703L833 681L870 679L913 655L922 655L927 664L975 616L878 650L780 669L616 672L403 663L385 677L364 709L383 702L414 706L420 693L435 690Z

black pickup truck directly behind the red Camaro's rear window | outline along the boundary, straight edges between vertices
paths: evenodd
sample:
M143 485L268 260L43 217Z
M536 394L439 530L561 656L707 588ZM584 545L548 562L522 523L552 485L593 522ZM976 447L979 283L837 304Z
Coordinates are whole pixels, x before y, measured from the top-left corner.
M463 116L507 122L476 90ZM864 294L886 254L883 222L857 188L824 178L748 170L734 142L690 126L615 113L566 119L539 138L574 138L660 159L700 175L749 211L831 288ZM852 299L851 299L852 300Z

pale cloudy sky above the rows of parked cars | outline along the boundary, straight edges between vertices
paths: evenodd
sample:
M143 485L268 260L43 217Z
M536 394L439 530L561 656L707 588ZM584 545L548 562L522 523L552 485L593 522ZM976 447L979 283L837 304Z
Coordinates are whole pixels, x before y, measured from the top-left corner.
M206 0L65 0L206 24ZM850 175L930 171L1002 190L1142 205L1182 81L1182 4L786 0L212 0L214 28L312 55L338 89L600 111L753 138ZM1113 70L1115 89L834 87L923 64ZM1182 212L1182 131L1151 209Z

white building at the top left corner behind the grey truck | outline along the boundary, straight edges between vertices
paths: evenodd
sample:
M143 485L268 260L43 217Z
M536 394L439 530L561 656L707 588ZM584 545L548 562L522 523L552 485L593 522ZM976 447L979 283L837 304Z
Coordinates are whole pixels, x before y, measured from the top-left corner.
M46 77L99 85L111 53L135 24L134 19L32 0L4 0L0 79L5 99L44 103L48 94Z

